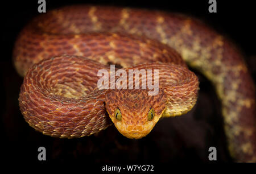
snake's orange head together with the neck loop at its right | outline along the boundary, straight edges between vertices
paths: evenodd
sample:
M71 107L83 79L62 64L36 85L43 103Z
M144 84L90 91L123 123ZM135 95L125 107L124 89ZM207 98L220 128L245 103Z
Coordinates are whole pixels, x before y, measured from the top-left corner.
M199 82L195 74L186 67L166 63L141 64L126 68L127 74L130 69L158 69L159 91L155 96L148 96L149 90L134 88L114 89L106 94L106 110L118 131L127 138L142 138L153 129L160 118L187 113L195 105ZM127 77L127 86L128 81ZM133 82L135 86L135 80ZM153 76L152 83L154 82ZM116 109L122 113L121 121L115 118ZM154 109L155 116L148 121L150 109Z

